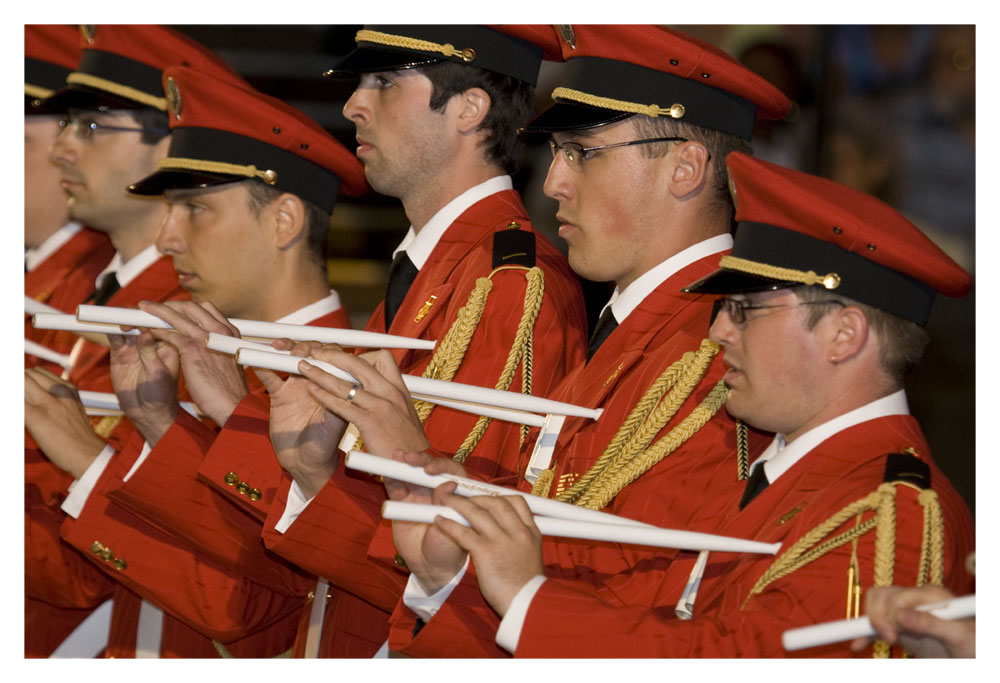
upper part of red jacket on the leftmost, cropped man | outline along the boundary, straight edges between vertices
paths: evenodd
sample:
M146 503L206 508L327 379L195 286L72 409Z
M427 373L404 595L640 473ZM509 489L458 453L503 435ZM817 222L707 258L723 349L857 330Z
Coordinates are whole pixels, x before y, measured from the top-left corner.
M64 313L75 313L77 305L93 293L97 276L114 253L107 235L91 228L81 228L48 258L24 274L24 295ZM25 320L24 337L58 353L69 353L74 341L72 337L57 335L53 330L36 330L30 319ZM38 363L39 359L34 356L26 359L28 366Z

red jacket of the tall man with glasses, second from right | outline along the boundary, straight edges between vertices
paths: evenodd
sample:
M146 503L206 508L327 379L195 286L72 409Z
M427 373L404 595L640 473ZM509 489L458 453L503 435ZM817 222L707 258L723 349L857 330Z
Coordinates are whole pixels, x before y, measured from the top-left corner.
M590 362L566 377L553 398L603 407L596 421L569 418L554 451L550 497L567 488L597 461L647 389L683 354L699 349L708 335L711 298L681 293L681 287L708 274L718 254L703 257L662 282L623 320ZM691 396L650 440L655 444L700 404L724 373L722 354L712 360ZM764 445L751 435L751 452ZM741 493L735 422L724 408L676 450L626 486L604 511L669 528L687 528L706 497ZM522 452L520 469L530 449ZM514 482L502 482L513 485ZM522 480L522 490L528 490ZM655 551L637 546L546 538L546 575L600 585L619 573L632 573L657 560ZM493 643L499 618L479 593L470 571L414 638L416 615L402 604L393 616L390 650L413 656L504 656Z

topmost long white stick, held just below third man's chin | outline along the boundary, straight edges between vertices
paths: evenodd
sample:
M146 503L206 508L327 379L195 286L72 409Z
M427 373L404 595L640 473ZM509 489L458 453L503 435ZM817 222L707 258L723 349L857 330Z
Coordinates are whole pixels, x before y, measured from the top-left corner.
M77 306L76 317L80 322L105 323L114 325L130 325L132 327L155 327L170 329L170 325L155 315L140 311L137 308L116 308L114 306L93 306L82 304ZM309 325L291 325L288 323L271 323L262 320L241 320L233 318L229 321L244 337L261 339L280 339L287 337L295 341L318 341L324 344L340 344L352 348L376 349L433 349L433 340L399 337L393 334L379 334L364 330L345 330L337 327L310 327Z

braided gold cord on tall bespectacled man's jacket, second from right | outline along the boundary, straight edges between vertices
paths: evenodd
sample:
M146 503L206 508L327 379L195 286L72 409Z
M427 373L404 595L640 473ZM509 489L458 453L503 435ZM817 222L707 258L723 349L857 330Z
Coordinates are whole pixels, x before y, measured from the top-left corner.
M649 446L694 392L718 353L719 345L706 339L697 351L685 353L670 365L635 405L601 457L571 487L556 495L555 499L600 510L623 488L673 453L701 429L725 403L727 390L721 381L687 417L653 446ZM547 497L552 479L551 471L543 472L535 481L532 493Z

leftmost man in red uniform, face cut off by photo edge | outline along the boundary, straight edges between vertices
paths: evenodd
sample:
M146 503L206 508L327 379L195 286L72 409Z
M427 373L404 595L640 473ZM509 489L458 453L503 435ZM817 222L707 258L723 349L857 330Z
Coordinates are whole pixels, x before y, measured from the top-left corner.
M42 100L66 84L66 76L80 61L79 32L68 25L25 25L24 55L24 294L70 312L90 296L94 279L114 251L106 235L70 221L66 215L60 196L59 167L49 159L49 147L59 135L62 115L45 113L40 106ZM48 330L36 330L30 318L25 320L26 341L44 346L51 335ZM59 348L45 348L66 354L72 343L67 339ZM26 366L42 362L39 356L25 356ZM61 370L56 364L49 367ZM38 450L26 452L25 509L58 519L58 494L70 481ZM92 570L89 573L95 579L95 590L73 596L56 594L51 587L38 586L26 576L25 656L52 654L87 617L91 607L110 595L111 583L93 576Z

